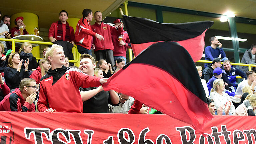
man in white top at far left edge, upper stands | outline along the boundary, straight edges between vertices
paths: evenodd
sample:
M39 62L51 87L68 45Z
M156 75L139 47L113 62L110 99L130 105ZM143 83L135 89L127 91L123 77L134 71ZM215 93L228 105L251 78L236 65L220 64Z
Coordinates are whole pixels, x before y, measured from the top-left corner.
M1 17L1 11L0 11L0 17ZM2 20L0 20L0 38L11 38L11 35L8 33L9 28ZM4 50L7 51L7 45L5 41L0 41L4 45Z

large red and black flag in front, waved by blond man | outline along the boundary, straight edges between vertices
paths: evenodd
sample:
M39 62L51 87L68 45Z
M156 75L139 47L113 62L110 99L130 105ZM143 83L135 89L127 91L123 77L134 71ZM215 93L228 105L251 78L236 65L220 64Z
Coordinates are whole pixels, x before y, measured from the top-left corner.
M202 131L210 114L189 53L176 42L151 45L103 84Z

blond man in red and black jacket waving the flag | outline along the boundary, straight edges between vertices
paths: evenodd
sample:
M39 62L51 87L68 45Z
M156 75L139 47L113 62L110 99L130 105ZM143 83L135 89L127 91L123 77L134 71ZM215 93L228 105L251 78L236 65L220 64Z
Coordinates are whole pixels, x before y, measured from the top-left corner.
M76 68L65 67L62 46L52 45L45 56L52 68L40 81L38 111L83 112L79 87L100 86L107 82L107 78L88 76Z

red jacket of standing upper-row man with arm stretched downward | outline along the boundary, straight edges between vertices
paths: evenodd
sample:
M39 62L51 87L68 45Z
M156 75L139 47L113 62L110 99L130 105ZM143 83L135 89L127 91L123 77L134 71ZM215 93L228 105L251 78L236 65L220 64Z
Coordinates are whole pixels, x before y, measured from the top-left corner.
M123 28L119 28L117 30L115 27L109 24L104 24L103 22L101 22L101 25L99 25L98 23L95 22L95 24L92 25L92 31L104 37L104 41L99 40L96 37L93 37L93 44L95 45L94 51L106 50L106 49L114 50L111 35L112 33L117 33L117 34L119 33L121 35Z

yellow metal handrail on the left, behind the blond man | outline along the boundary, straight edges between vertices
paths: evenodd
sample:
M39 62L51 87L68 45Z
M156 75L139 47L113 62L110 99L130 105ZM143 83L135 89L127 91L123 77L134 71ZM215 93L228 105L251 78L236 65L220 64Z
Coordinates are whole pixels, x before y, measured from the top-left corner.
M13 52L15 52L15 42L30 42L30 43L35 43L35 44L43 44L43 45L53 45L52 42L42 42L42 41L31 41L31 40L18 40L18 39L5 39L5 38L0 38L0 41L11 41L12 42L12 50ZM75 47L75 55L76 55L76 60L69 60L69 62L72 63L76 63L78 62L78 51L77 51L77 47L73 46L73 48ZM37 60L40 60L42 58L36 58Z

